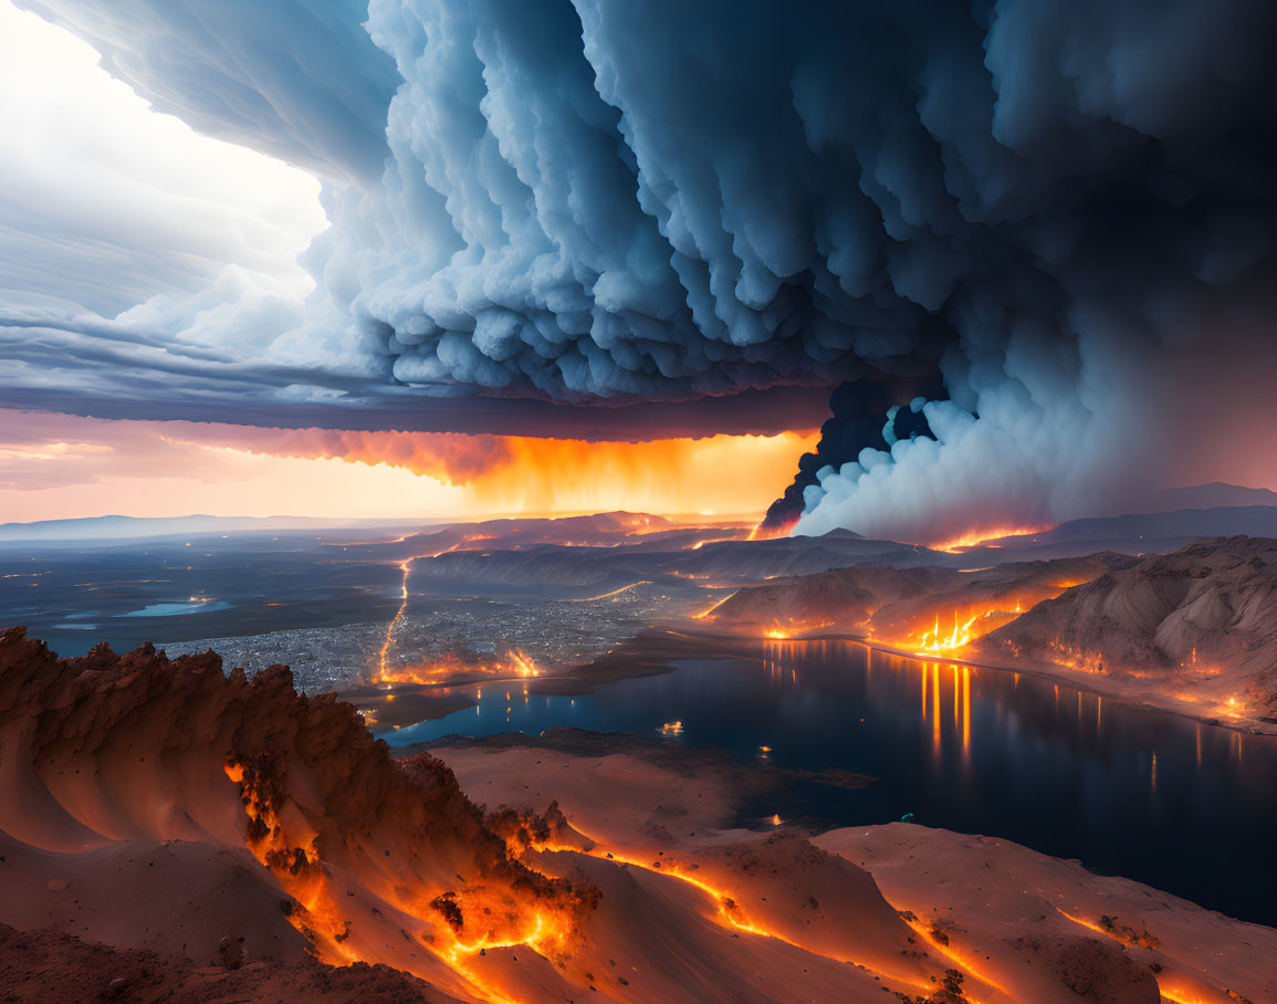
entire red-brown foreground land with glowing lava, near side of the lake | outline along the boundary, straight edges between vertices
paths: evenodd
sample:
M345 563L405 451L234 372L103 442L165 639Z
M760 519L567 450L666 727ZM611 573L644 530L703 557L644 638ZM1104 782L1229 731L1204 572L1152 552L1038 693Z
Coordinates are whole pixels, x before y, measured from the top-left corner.
M57 659L13 630L0 723L17 1000L1277 994L1277 932L1131 883L914 826L729 829L713 760L526 741L393 760L282 668Z

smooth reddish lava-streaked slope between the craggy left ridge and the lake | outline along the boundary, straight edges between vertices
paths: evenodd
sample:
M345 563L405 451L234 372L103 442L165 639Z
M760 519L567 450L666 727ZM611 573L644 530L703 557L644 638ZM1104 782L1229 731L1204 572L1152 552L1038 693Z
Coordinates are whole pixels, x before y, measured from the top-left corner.
M499 743L435 752L489 806L553 800L573 830L633 871L668 872L672 862L728 890L738 920L813 954L872 941L870 925L889 930L885 913L863 915L881 895L907 918L911 950L964 975L967 999L1277 1000L1277 931L1008 840L902 823L811 839L783 824L771 835L723 830L733 793L713 772L663 769L632 752L530 757ZM842 871L831 856L857 867Z

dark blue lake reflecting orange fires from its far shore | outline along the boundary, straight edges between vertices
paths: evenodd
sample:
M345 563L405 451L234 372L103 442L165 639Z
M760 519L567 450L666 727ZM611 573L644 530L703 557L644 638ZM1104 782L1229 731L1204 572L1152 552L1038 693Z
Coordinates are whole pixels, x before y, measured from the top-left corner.
M576 697L489 683L476 708L387 738L561 726L651 736L672 722L673 742L742 757L767 746L778 766L882 780L796 786L767 807L782 816L856 825L913 812L1277 924L1277 740L1023 673L778 641L759 659L682 662Z

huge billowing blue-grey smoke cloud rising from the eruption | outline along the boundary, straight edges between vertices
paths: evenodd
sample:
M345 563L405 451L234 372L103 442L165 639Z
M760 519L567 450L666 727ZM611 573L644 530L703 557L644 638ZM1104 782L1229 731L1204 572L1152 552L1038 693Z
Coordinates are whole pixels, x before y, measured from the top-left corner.
M249 346L294 397L867 379L776 519L911 540L1120 507L1271 413L1221 369L1272 363L1269 4L26 5L326 179L317 289Z

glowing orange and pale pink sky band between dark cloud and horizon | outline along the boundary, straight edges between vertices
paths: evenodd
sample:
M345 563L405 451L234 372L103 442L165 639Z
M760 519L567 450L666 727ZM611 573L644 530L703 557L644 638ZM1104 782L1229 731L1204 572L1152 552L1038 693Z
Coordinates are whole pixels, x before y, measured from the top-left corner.
M761 513L815 432L587 443L0 410L0 522L121 513Z

